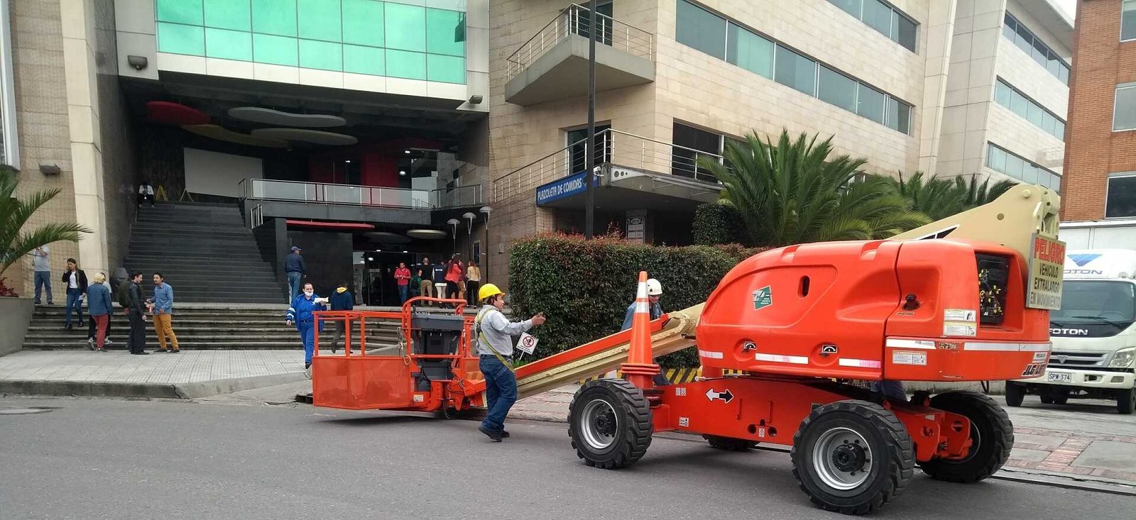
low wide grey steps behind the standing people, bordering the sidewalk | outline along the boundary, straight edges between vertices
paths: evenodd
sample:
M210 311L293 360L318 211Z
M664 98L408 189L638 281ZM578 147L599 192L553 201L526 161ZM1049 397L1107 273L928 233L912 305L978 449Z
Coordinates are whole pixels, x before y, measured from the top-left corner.
M175 293L175 297L177 294ZM86 308L84 307L84 312ZM185 350L257 350L257 349L299 349L300 334L295 327L284 322L287 307L275 305L224 305L224 304L174 304L174 334L177 343ZM86 314L83 314L86 318ZM73 317L74 319L74 317ZM111 350L126 349L126 335L130 321L115 304L115 316L111 318ZM76 326L73 330L61 330L64 324L62 305L36 305L32 322L24 338L25 350L78 350L86 349L86 325ZM371 352L383 349L379 354L393 353L399 344L399 321L367 320L367 350ZM358 333L358 330L357 330ZM327 324L320 333L320 344L325 349L331 344L335 326ZM358 345L358 337L352 342ZM153 330L153 321L147 321L147 346L156 349L158 336ZM342 344L341 344L342 349ZM340 351L342 352L342 350Z

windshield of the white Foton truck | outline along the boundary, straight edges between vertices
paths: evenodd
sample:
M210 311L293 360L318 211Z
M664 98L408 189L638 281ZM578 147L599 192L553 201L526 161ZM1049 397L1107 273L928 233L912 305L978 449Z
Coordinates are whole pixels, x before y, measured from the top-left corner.
M1064 280L1061 310L1050 311L1050 322L1111 324L1127 327L1136 321L1136 285L1112 280Z

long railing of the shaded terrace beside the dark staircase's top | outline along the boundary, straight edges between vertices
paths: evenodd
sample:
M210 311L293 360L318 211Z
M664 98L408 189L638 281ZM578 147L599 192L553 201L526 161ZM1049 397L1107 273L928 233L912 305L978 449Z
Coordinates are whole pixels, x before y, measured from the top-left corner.
M241 181L241 185L245 199L284 202L429 210L478 206L483 201L479 184L438 190L408 190L248 178Z

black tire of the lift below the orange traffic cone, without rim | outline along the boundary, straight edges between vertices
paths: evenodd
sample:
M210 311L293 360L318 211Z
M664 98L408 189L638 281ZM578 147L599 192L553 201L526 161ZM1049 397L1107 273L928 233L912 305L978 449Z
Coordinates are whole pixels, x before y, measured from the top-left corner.
M613 441L599 448L584 436L584 410L587 403L601 400L615 410ZM617 469L635 463L651 445L651 404L643 391L626 379L596 379L576 391L568 406L568 436L576 456L595 468Z

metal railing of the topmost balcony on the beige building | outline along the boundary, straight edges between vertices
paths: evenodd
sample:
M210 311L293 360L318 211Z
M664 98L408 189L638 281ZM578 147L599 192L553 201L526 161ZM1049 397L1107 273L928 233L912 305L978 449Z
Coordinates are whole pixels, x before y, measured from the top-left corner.
M512 79L533 62L544 56L558 43L573 34L587 37L588 8L573 3L562 9L552 22L549 22L533 37L528 39L508 59L508 79ZM654 56L654 35L638 27L633 27L610 16L596 12L598 44L627 52L640 58L652 59Z

